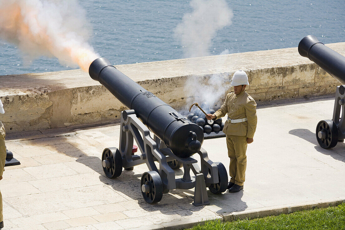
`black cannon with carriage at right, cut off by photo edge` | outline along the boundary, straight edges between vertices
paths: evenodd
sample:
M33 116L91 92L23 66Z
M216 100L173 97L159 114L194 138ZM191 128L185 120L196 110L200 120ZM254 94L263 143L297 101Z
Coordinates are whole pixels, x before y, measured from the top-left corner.
M320 121L316 126L319 145L332 148L345 138L345 57L319 42L313 35L308 35L299 42L298 52L343 84L336 89L333 119Z

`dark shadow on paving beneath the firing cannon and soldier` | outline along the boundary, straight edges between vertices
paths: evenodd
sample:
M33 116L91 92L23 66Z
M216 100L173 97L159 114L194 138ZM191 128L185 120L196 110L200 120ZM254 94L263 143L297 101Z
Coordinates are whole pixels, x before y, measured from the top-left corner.
M183 170L181 169L176 169L174 171L176 176L183 175ZM241 200L243 190L238 193L228 193L226 190L223 194L213 194L207 189L210 205L195 207L191 204L194 198L194 190L175 189L170 190L169 193L163 194L163 198L159 203L148 204L141 195L141 175L142 174L135 174L133 171L123 170L122 174L118 178L111 179L110 183L110 179L103 175L100 175L99 178L103 183L111 185L115 191L133 200L137 200L140 208L148 212L160 211L162 214L166 215L174 215L177 213L183 217L190 216L193 212L200 211L205 207L217 214L242 211L248 207L246 202Z

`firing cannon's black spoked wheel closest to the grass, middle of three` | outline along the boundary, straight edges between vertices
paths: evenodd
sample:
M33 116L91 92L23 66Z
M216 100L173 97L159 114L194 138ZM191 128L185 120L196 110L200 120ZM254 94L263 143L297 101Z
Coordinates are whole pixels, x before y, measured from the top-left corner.
M157 203L163 197L163 182L160 175L156 171L145 172L141 176L141 186L147 185L148 191L142 191L141 194L144 200L149 203Z

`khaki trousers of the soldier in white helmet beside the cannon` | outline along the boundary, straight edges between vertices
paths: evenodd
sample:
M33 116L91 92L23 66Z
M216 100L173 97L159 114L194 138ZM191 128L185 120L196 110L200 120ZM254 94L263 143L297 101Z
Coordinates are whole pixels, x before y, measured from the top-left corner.
M242 186L246 179L247 137L226 135L226 145L228 147L228 156L230 158L230 182Z

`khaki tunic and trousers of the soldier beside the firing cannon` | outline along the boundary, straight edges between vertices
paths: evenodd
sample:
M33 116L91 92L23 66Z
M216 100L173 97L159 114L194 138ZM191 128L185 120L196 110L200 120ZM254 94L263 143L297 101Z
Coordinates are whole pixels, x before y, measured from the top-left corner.
M230 158L230 182L242 186L247 168L247 138L253 138L256 130L256 102L245 91L238 95L231 92L226 96L224 104L214 114L217 116L215 119L225 115L228 115L230 119L245 117L248 119L248 121L240 123L225 122L223 128Z

